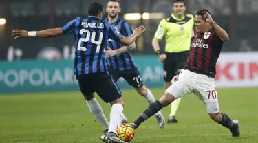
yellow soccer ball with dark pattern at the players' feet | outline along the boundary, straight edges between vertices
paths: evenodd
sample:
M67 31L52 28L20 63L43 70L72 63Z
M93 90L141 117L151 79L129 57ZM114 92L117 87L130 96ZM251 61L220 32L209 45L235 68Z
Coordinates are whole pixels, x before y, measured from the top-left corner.
M116 129L116 136L125 142L130 142L134 137L134 129L131 124L120 124Z

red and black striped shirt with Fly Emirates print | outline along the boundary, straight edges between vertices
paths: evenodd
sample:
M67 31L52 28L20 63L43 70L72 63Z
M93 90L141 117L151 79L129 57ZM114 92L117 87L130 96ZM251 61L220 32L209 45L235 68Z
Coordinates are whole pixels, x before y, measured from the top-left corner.
M184 69L215 78L216 63L223 43L214 28L204 33L195 32Z

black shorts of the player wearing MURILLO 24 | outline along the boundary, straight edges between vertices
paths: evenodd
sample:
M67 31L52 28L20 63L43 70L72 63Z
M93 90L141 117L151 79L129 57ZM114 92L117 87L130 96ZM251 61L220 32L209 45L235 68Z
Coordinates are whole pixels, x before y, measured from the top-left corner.
M80 91L85 97L92 96L97 92L98 96L105 101L111 102L122 96L115 79L109 72L99 72L94 74L83 74L76 76Z

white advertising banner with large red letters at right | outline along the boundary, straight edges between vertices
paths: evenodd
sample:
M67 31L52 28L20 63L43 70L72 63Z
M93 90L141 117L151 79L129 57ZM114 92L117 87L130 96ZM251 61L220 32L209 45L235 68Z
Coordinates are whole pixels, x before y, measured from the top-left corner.
M258 87L258 52L224 52L217 61L216 87Z

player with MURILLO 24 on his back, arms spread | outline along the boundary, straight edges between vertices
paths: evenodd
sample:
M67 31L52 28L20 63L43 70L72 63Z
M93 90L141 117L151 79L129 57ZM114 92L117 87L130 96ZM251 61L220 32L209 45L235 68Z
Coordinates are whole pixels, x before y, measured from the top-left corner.
M124 104L118 85L109 74L105 58L107 39L111 38L123 45L131 45L144 31L140 26L129 37L122 36L108 23L101 21L103 6L100 3L90 3L86 18L77 17L62 28L53 28L41 31L13 30L15 39L20 37L54 37L63 34L74 34L75 60L74 73L78 80L80 91L87 103L92 104L90 110L98 111L97 115L103 114L99 104L92 94L97 94L112 107L110 111L110 124L105 140L107 142L122 142L116 137L116 129L120 124ZM103 114L104 115L104 114ZM95 116L94 116L95 117Z

